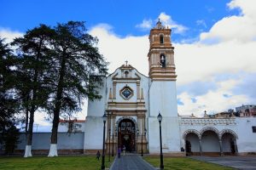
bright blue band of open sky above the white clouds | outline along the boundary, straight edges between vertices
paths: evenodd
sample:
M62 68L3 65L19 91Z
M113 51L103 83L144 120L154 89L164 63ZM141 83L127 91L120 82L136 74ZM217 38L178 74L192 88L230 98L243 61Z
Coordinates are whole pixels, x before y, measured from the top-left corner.
M238 10L226 7L228 0L162 0L162 1L83 1L83 0L2 0L0 25L14 31L24 32L40 23L54 26L56 22L84 20L90 29L99 23L108 23L120 37L141 36L147 30L138 29L144 19L155 19L161 12L172 14L172 19L189 28L188 32L175 34L180 38L197 37L209 30L224 16L238 14ZM203 22L198 22L203 20Z

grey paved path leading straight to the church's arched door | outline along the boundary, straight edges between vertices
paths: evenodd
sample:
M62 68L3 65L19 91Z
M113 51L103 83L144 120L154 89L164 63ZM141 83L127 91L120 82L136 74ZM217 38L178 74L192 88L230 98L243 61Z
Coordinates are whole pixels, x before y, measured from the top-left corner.
M141 156L135 154L127 154L117 158L115 156L114 162L110 170L155 170L147 161L144 161Z

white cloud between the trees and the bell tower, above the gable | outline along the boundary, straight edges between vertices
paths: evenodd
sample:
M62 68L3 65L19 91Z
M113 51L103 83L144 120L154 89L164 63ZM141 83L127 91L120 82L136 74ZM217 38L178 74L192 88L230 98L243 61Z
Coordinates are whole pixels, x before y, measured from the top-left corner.
M113 34L113 29L106 29L102 25L91 28L89 33L99 38L97 47L100 53L110 62L110 73L124 65L127 59L130 65L148 75L148 66L145 66L148 65L148 35L119 37ZM145 65L142 66L143 63Z

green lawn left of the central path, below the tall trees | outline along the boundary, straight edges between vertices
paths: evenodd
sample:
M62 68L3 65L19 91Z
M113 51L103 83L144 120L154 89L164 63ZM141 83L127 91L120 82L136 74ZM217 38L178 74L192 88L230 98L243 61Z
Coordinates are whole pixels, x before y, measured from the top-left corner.
M102 157L101 157L102 158ZM108 162L105 156L105 167L110 167L114 157ZM102 166L102 159L96 160L96 156L58 156L58 157L0 157L0 169L12 170L99 170Z

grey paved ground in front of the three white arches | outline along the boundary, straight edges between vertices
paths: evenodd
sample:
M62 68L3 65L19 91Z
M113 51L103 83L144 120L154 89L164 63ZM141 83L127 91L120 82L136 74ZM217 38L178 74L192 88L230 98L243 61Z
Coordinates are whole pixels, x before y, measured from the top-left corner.
M236 169L256 170L256 156L191 156L190 158Z

